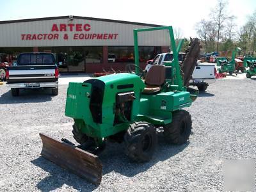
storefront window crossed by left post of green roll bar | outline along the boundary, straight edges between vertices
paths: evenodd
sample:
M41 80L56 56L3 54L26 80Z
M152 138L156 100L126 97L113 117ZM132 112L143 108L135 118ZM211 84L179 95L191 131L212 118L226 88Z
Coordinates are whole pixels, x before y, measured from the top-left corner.
M140 62L152 60L161 53L161 47L139 47ZM133 63L134 47L108 47L108 62Z

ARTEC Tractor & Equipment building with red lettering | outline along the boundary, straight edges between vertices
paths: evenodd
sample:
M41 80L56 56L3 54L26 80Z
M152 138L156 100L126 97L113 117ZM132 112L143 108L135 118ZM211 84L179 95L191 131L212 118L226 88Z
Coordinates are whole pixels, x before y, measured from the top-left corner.
M121 20L63 16L0 21L0 53L52 52L61 72L124 70L134 62L133 29L157 27ZM169 51L166 31L138 35L140 62Z

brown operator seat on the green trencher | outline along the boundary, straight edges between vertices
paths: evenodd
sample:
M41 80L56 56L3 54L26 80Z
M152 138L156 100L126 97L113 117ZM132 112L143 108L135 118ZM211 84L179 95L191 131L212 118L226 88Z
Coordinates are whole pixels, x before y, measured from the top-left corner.
M146 87L142 93L153 94L161 91L161 85L165 81L165 66L153 65L145 77Z

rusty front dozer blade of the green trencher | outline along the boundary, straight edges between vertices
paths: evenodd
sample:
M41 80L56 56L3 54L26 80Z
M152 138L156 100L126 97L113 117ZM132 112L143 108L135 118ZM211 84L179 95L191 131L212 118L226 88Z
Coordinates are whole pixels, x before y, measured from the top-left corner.
M100 184L102 163L98 156L74 145L54 140L45 134L40 133L39 135L43 143L41 155L45 159L58 164L93 184Z

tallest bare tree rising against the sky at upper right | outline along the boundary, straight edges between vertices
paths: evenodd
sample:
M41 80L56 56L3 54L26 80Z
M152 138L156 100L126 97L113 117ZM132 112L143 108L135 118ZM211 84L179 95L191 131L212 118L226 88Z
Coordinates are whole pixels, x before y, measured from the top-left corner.
M232 19L234 16L227 14L227 1L218 0L216 7L211 11L212 20L217 27L217 52L219 51L219 42L221 37L221 32L223 30L223 24L225 21Z

